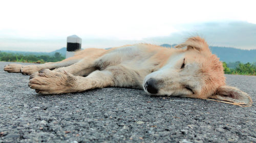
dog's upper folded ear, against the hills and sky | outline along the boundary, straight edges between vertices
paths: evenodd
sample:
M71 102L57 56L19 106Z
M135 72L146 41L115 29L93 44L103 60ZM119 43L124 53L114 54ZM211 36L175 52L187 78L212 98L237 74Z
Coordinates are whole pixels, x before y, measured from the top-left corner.
M199 36L191 37L186 40L186 42L176 45L176 48L182 48L187 46L187 50L195 49L198 51L210 51L205 40Z

